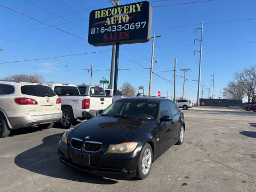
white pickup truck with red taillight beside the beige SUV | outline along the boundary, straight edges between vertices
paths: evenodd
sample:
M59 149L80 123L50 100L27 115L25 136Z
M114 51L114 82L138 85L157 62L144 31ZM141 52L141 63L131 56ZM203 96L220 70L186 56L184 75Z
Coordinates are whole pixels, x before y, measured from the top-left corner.
M76 119L89 119L97 116L101 110L106 109L112 102L100 86L70 85L52 83L49 85L61 98L61 126L69 128ZM78 90L79 89L79 90Z

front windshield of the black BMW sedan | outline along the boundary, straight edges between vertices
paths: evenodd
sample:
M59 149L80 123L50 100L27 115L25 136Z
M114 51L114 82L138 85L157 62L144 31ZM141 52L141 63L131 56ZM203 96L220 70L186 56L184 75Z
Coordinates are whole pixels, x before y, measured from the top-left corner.
M145 101L116 101L101 115L150 120L156 116L156 104Z

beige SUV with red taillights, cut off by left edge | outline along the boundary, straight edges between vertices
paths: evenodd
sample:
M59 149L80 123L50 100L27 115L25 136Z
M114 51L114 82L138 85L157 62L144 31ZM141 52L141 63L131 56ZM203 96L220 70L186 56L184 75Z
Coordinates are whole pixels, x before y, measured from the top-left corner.
M51 87L0 80L0 138L32 125L49 129L61 117L61 99Z

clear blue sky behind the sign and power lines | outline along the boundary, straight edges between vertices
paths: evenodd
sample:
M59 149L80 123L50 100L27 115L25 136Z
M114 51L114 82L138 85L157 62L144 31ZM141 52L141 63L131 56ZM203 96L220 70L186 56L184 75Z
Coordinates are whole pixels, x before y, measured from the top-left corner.
M85 39L87 39L88 35L87 28L90 11L111 6L108 0L27 1L60 16L75 12L62 16L66 20L73 21L75 25L73 23L67 23L67 21L60 18L45 21L55 16L23 0L1 0L0 4L27 14L30 17L45 21L50 25L58 25L56 27ZM183 76L182 71L179 69L191 69L191 71L186 73L188 81L186 81L185 84L185 97L196 100L197 82L192 80L198 79L199 53L194 55L194 50L199 50L200 42L196 42L196 45L194 45L194 39L200 38L200 31L198 30L197 33L195 33L196 26L170 29L158 28L196 25L201 21L211 23L256 18L256 2L254 0L214 0L177 6L154 7L159 5L195 2L195 0L153 1L149 1L153 6L153 29L151 34L162 36L155 41L154 60L158 62L154 63L154 72L166 79L170 79L172 83L157 76L153 76L152 93L153 95L157 95L157 92L161 91L163 96L167 96L168 91L169 96L173 95L173 72L161 71L172 70L174 68L174 58L177 58L178 75ZM67 2L82 11L78 11ZM132 2L139 1L121 0L120 4ZM4 52L0 52L0 62L108 50L105 47L94 47L83 39L62 33L57 29L47 27L42 23L23 17L3 7L0 7L0 9L0 17L2 18L0 49L5 50ZM223 91L223 87L233 79L235 71L255 65L255 24L256 20L248 20L204 25L201 84L206 84L205 88L210 87L212 92L211 75L215 73L214 94L216 94L216 97L219 97L220 91ZM31 44L39 44L40 46ZM151 41L148 43L121 45L120 53L143 66L150 67L151 45ZM60 64L58 65L56 62ZM93 63L94 69L109 69L110 62L111 51L65 58L3 63L0 64L0 79L13 74L37 73L43 75L46 82L89 84L90 73L82 69L90 68L91 63ZM66 65L69 67L65 67ZM141 67L120 55L119 68ZM101 77L109 79L109 75L109 71L95 71L93 73L93 83L98 84ZM149 71L146 69L121 70L118 74L118 87L124 82L130 82L136 89L138 89L138 86L144 86L145 93L148 93ZM182 89L183 78L177 77L178 97L182 97ZM204 89L204 98L207 96L208 92Z

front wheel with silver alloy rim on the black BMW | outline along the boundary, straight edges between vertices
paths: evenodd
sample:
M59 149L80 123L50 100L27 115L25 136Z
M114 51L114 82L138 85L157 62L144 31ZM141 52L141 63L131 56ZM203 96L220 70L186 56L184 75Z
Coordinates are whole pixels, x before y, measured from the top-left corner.
M140 153L137 173L136 173L137 179L142 180L148 177L152 167L152 162L153 162L153 151L149 143L146 143Z

